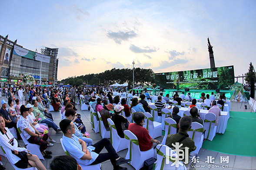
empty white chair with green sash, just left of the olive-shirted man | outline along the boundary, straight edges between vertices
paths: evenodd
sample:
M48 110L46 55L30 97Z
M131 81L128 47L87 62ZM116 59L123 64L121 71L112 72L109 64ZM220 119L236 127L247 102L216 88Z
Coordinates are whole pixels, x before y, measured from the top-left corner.
M164 125L165 125L165 135L163 137L163 141L161 144L165 144L166 138L170 134L176 134L177 132L177 123L172 118L166 118L164 119Z

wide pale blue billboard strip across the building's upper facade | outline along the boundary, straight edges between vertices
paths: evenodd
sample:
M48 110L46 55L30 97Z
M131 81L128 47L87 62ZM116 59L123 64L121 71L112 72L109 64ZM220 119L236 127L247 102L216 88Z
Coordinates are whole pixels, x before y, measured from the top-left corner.
M42 54L39 54L37 52L27 50L25 48L21 48L17 45L14 45L13 54L21 56L21 57L33 59L33 60L36 60L36 61L41 61L42 60L42 62L50 63L50 57L49 56L42 55ZM42 57L43 57L43 59L42 59Z

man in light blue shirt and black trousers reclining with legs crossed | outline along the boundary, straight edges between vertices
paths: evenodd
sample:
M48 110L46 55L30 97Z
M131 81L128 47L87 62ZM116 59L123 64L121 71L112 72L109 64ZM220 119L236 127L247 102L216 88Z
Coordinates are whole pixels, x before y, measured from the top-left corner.
M124 160L119 157L107 138L103 138L96 144L86 147L86 143L83 140L73 135L75 134L75 125L71 120L63 119L60 122L60 128L63 132L63 145L70 156L76 159L78 164L95 165L110 159L114 170L127 170L127 168L120 167L119 165L130 160ZM108 153L100 154L104 147Z

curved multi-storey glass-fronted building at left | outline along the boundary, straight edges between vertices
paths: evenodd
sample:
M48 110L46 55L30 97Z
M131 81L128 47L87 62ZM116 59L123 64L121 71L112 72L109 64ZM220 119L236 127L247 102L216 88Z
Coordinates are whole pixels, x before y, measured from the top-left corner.
M22 75L33 75L36 84L53 85L57 82L58 48L45 48L43 54L27 50L12 42L8 35L0 35L1 86L21 84ZM41 67L42 62L42 67Z

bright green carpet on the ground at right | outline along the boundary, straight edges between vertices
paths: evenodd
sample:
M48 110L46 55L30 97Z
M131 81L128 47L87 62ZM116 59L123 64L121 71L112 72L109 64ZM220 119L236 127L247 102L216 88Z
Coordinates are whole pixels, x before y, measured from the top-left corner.
M256 157L256 113L229 114L226 132L217 133L213 141L206 140L202 148L225 154Z

